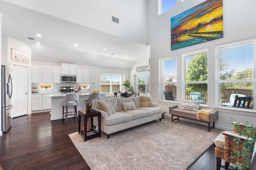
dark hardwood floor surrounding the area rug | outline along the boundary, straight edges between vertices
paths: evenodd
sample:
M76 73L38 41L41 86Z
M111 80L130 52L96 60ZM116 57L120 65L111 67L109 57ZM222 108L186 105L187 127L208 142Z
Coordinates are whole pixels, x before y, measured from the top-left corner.
M77 120L50 121L49 112L12 119L11 129L0 137L0 170L90 170L68 137L76 131ZM188 170L216 170L214 147Z

